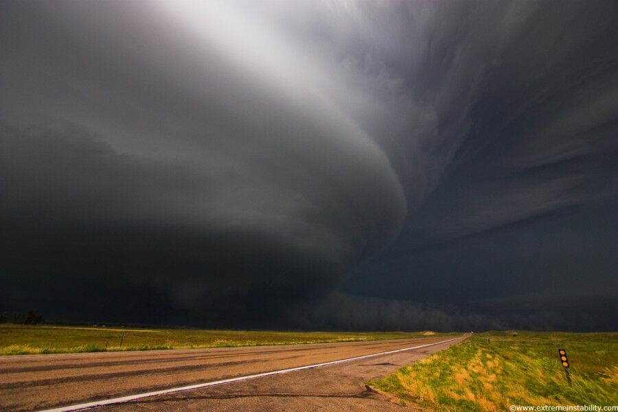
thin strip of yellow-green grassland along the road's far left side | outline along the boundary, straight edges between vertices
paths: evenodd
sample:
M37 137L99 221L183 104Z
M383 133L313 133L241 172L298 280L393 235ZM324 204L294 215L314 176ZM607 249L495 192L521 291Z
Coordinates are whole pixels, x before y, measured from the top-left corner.
M433 334L433 333L432 333ZM448 334L436 334L436 336ZM124 337L123 337L124 336ZM0 355L290 345L426 337L423 332L274 332L0 324ZM121 345L122 341L122 345Z

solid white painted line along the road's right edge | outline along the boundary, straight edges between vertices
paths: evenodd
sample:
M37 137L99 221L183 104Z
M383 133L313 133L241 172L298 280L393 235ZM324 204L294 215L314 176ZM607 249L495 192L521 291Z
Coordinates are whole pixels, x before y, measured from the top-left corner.
M39 412L83 411L84 409L103 407L105 405L111 405L111 404L120 404L120 403L124 403L124 402L130 402L131 400L136 400L136 399L141 399L141 398L148 398L150 396L165 395L165 394L168 394L168 393L176 393L176 392L183 392L183 391L192 391L194 389L211 387L211 386L215 386L215 385L225 385L226 383L242 382L242 380L262 378L262 376L287 374L288 372L301 371L303 369L312 369L312 368L316 368L316 367L336 365L338 363L359 361L361 359L373 358L375 356L389 355L389 354L395 354L397 352L404 352L404 351L407 351L407 350L421 349L422 347L435 346L435 345L440 345L441 343L448 343L448 342L457 341L457 339L461 339L464 336L459 336L459 337L453 338L453 339L447 339L446 341L439 341L439 342L434 342L434 343L426 343L425 345L418 345L418 346L412 346L412 347L404 347L403 349L389 350L387 352L379 352L377 354L355 356L354 358L341 359L339 361L330 361L330 362L316 363L314 365L290 367L289 369L280 369L278 371L264 372L262 374L238 376L237 378L214 380L212 382L197 383L195 385L188 385L188 386L176 387L176 388L170 388L170 389L162 389L161 391L137 393L136 395L122 396L120 398L96 400L94 402L87 402L87 403L83 403L83 404L76 404L76 405L71 405L69 407L60 407L60 408L54 408L54 409L44 409L43 411L39 411Z

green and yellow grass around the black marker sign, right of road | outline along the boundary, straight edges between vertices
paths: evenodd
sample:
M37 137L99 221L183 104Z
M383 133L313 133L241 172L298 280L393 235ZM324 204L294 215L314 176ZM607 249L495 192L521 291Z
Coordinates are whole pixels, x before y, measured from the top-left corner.
M516 333L516 336L514 336ZM558 360L567 350L573 383ZM618 333L487 332L370 382L433 411L618 405Z

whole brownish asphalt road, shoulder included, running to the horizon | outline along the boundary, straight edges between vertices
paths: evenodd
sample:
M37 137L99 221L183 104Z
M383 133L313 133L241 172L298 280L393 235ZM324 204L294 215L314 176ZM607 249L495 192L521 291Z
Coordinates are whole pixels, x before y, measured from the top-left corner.
M0 358L0 410L51 409L450 340L316 369L149 396L97 410L374 410L374 402L380 402L381 409L400 409L365 388L364 382L458 343L466 336L454 341L442 336L204 350L4 356Z

